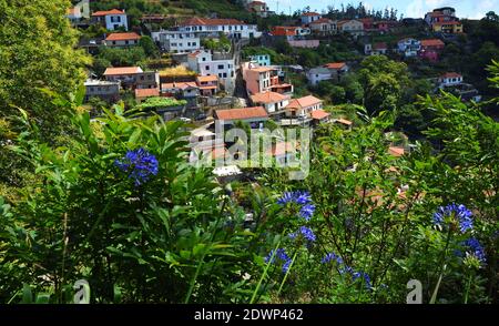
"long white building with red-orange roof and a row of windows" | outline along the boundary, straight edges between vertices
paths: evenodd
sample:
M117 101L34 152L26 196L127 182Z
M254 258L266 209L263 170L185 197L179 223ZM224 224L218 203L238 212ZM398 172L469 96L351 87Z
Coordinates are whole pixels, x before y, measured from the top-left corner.
M217 38L220 33L233 39L259 38L262 32L256 24L246 24L237 19L210 19L193 17L182 22L177 30L192 32L197 38Z

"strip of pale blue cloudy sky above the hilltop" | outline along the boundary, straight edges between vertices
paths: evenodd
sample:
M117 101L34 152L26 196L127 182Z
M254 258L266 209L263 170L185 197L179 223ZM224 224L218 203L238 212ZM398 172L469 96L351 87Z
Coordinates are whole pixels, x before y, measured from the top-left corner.
M355 7L360 0L264 0L271 10L278 12L303 9L310 6L314 11L320 12L334 4L340 9L342 3L345 6L352 3ZM439 7L454 7L456 16L459 18L481 19L488 11L499 13L499 0L364 0L361 1L367 9L384 10L385 8L394 8L398 10L398 16L404 13L406 18L422 18L426 12Z

